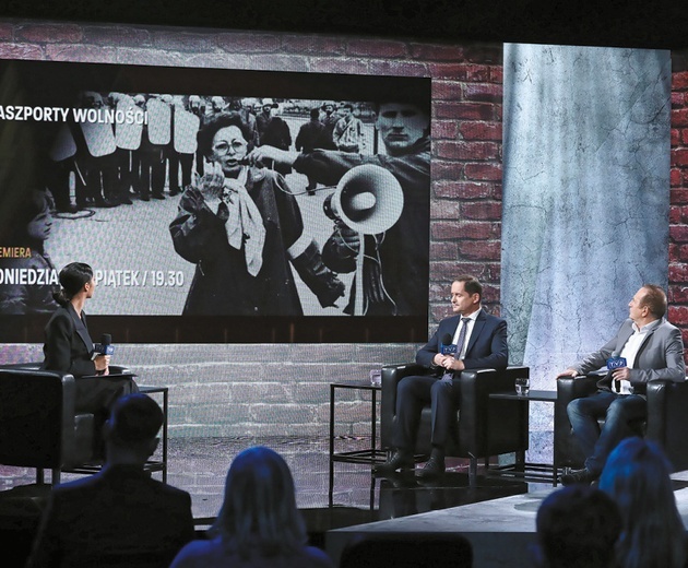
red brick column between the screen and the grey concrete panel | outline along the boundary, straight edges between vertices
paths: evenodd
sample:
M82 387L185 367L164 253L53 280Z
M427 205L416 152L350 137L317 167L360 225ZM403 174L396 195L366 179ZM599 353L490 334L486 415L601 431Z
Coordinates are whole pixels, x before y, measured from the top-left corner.
M439 52L427 47L425 52ZM501 258L502 51L465 48L432 82L430 311L446 317L451 280L461 273L485 284L498 312ZM434 75L435 78L435 75Z

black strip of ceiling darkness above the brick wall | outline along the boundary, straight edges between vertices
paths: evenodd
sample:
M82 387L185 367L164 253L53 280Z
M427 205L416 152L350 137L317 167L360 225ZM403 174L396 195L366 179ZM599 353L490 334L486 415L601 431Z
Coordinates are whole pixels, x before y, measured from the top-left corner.
M681 2L639 0L12 0L0 16L451 40L678 48Z

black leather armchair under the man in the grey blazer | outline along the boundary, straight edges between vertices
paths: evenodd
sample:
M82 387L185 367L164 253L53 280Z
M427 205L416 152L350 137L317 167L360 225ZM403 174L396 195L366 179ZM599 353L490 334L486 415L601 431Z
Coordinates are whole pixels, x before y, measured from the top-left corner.
M574 399L596 392L598 376L557 380L555 405L555 468L582 468L585 457L578 446L566 407ZM657 442L673 471L688 469L688 381L654 380L648 383L648 418L633 425L639 436ZM604 422L604 421L601 421Z

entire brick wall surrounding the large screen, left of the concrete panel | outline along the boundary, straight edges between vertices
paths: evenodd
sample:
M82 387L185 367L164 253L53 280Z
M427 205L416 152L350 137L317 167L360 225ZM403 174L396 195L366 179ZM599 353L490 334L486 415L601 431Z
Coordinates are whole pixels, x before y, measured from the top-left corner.
M501 46L134 25L0 21L0 58L432 79L430 327L449 313L453 276L474 273L498 312ZM327 436L333 379L413 358L414 344L122 345L142 384L170 388L170 436ZM274 352L275 346L269 347ZM0 363L40 359L2 345ZM369 403L342 393L341 434L366 435Z

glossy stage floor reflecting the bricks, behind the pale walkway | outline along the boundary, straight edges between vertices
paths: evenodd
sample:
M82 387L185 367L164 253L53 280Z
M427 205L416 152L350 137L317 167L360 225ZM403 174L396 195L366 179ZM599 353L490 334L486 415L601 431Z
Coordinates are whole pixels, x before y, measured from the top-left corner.
M367 447L369 441L365 438L341 437L335 440L335 451L357 450ZM306 516L309 530L313 532L456 507L550 486L481 476L478 487L468 488L466 463L451 459L448 460L448 473L441 482L424 485L416 483L413 476L376 478L371 476L368 464L335 462L331 505L327 438L173 438L168 446L167 482L191 494L193 518L199 528L210 524L220 510L225 476L234 457L257 445L268 446L285 458L294 475L297 505ZM156 455L159 458L159 450ZM46 475L49 481L49 474ZM153 475L161 478L159 473ZM62 482L72 478L76 478L76 475L62 474ZM34 470L0 465L0 489L33 483Z

